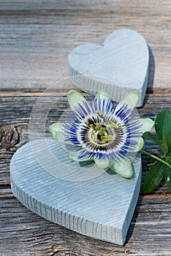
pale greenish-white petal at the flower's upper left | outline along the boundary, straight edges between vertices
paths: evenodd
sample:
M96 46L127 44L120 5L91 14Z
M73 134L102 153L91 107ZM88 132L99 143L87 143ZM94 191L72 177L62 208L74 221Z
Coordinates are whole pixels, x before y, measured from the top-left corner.
M85 97L83 97L78 91L75 90L70 90L67 94L67 98L73 111L75 111L75 107L77 107L78 103L83 104L83 102L87 102Z

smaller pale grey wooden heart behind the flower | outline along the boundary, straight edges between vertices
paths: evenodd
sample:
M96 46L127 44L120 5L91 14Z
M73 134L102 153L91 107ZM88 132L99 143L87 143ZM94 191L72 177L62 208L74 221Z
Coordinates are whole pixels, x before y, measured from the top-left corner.
M80 45L69 54L69 77L90 94L105 89L115 101L137 91L142 106L148 83L149 53L145 39L131 29L116 30L104 46Z

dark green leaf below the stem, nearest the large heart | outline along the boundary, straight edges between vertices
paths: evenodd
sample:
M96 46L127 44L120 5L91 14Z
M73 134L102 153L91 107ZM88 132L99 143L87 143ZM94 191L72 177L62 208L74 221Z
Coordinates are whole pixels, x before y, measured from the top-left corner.
M160 184L164 175L164 164L156 162L149 170L142 183L142 192L147 194Z

